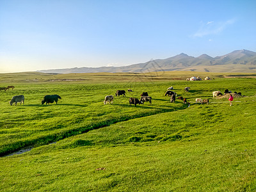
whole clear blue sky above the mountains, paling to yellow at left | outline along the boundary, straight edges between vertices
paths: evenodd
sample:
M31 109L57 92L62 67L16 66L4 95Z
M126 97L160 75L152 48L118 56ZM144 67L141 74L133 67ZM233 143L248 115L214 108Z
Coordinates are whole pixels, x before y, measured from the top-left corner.
M256 51L256 1L0 0L0 72Z

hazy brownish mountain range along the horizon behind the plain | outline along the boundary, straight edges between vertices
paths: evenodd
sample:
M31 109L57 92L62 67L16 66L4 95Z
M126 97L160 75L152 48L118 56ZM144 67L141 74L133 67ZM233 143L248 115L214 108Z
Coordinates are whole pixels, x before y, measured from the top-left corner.
M181 53L164 60L151 60L124 67L80 67L38 70L44 73L92 73L92 72L153 72L153 71L198 71L198 72L256 72L256 52L237 50L212 58L202 54L197 58Z

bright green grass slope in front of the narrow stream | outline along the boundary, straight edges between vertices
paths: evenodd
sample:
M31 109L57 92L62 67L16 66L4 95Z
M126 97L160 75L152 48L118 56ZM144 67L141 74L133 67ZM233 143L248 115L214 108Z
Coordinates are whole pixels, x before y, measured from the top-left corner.
M191 106L1 157L0 188L255 191L255 106Z

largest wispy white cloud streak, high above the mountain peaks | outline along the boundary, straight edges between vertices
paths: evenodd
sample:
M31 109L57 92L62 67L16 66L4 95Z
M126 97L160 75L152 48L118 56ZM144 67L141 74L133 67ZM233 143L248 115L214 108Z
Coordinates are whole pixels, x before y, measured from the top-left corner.
M221 22L213 22L209 21L206 23L202 23L200 26L200 29L193 35L194 37L202 37L207 35L217 35L220 34L222 31L224 31L225 28L230 26L231 24L234 24L235 20L226 20Z

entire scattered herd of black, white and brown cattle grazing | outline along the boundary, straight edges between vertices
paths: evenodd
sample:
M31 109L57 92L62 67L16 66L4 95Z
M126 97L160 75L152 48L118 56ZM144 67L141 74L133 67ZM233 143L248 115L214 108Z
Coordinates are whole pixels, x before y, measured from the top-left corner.
M9 90L10 88L14 88L14 86L7 86L6 88L0 88L0 90ZM186 87L184 88L185 92L189 92L190 87ZM170 102L175 102L175 99L180 99L183 100L184 104L188 104L188 106L190 106L190 103L187 101L186 98L183 98L182 96L177 95L177 93L173 92L173 86L169 87L167 89L167 91L165 92L164 96L170 96ZM132 92L131 89L128 90L128 92ZM115 95L116 97L119 97L120 95L123 95L123 97L125 97L125 90L117 90ZM227 89L224 91L224 95L227 93L231 93L230 91L228 91ZM234 92L237 93L237 92ZM239 95L241 95L241 92L237 93ZM220 91L215 91L212 92L212 97L218 97L223 95ZM131 104L134 104L134 106L136 107L137 104L144 104L144 102L149 102L149 104L152 104L152 97L148 96L148 92L143 92L140 95L140 100L136 99L134 97L129 97L129 105L131 106ZM12 100L10 100L10 105L12 106L13 103L15 103L15 105L17 105L17 102L20 102L20 104L24 104L24 95L15 95L12 97ZM42 104L46 103L46 104L50 104L53 102L56 102L56 104L58 103L58 99L61 99L60 95L45 95L44 99L42 100ZM106 95L105 99L104 99L104 104L107 103L113 103L114 97L113 95ZM196 98L195 99L195 103L201 103L201 104L209 104L209 99L200 99L200 98Z

